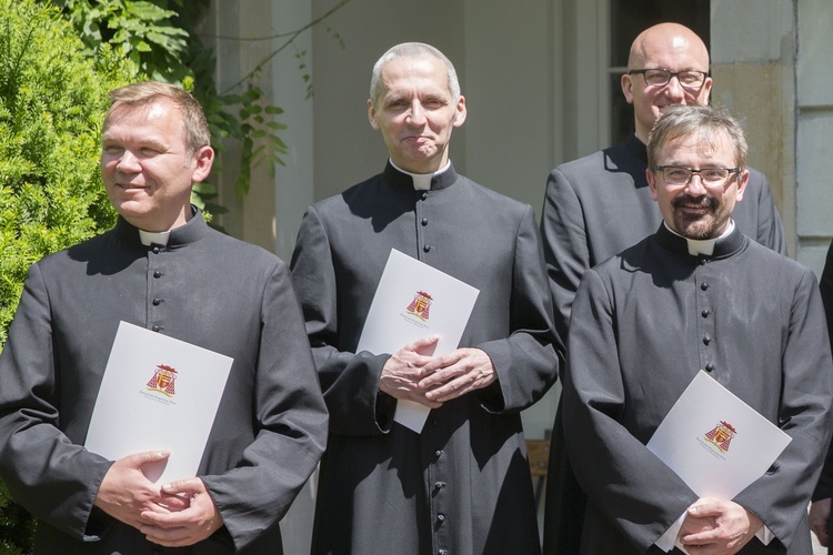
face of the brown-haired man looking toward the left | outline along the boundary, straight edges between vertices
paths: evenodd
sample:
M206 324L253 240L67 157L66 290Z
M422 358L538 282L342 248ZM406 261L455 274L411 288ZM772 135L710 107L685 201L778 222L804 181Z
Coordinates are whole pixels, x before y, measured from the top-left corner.
M170 231L191 218L191 186L211 171L213 150L189 151L169 100L111 109L101 138L101 174L113 208L144 231Z

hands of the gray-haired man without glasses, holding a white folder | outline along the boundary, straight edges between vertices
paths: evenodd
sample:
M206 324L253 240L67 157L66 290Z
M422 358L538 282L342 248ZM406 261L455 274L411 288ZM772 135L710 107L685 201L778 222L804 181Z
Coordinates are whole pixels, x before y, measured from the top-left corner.
M432 357L438 341L438 335L430 335L393 353L382 369L379 389L395 398L436 408L496 380L494 364L485 352L458 349Z

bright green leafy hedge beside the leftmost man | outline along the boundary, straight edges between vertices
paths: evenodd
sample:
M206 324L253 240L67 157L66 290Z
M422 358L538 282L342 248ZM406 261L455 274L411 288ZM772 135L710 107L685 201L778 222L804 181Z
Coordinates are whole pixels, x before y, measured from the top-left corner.
M107 92L139 74L107 50L97 62L82 50L57 8L0 0L0 344L29 265L114 222L100 129ZM1 486L0 553L26 553L33 523Z

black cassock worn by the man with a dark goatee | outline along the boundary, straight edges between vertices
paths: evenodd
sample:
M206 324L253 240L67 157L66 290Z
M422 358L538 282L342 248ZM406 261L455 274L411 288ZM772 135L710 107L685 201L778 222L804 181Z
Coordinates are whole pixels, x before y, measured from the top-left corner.
M815 276L737 230L712 256L691 255L664 225L588 271L573 305L563 414L588 493L581 553L659 552L652 544L697 498L645 444L700 370L792 437L733 500L776 538L741 553L810 553L806 507L833 398Z

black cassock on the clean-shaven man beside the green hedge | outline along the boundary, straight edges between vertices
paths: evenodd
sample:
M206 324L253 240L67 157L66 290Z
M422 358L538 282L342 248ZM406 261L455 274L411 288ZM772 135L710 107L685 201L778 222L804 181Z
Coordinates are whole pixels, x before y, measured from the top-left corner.
M0 356L0 475L41 519L36 552L168 552L92 506L111 463L82 445L120 321L234 359L198 471L225 526L175 553L282 553L327 411L287 264L199 213L167 246L119 219L29 271ZM147 416L160 436L189 425Z

